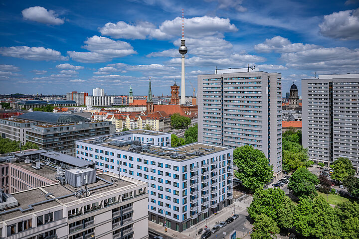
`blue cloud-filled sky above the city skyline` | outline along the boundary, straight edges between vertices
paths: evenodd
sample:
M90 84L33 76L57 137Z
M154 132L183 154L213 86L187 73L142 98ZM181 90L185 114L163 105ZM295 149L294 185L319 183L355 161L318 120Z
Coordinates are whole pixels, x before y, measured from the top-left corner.
M0 94L186 95L215 67L282 74L282 94L359 71L359 0L0 0Z

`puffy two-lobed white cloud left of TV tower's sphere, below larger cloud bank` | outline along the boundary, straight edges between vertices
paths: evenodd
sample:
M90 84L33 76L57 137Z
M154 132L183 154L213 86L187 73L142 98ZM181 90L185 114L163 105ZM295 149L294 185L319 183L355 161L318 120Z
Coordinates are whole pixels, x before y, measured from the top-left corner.
M103 36L93 36L87 38L83 48L90 52L68 51L67 54L75 61L95 63L106 62L113 58L124 57L137 54L130 43L124 41L114 41Z

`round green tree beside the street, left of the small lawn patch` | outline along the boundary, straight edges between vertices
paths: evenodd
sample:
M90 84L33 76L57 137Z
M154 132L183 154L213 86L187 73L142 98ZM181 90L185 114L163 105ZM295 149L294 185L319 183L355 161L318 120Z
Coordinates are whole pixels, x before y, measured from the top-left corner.
M288 189L293 190L297 197L314 197L317 195L315 185L319 183L318 178L306 168L300 168L290 177Z

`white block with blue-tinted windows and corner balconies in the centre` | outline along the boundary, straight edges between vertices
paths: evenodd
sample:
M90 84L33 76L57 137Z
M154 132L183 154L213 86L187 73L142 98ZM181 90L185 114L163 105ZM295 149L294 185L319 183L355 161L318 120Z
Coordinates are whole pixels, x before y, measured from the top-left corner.
M78 140L76 157L148 183L149 220L181 232L232 203L233 149L197 142L167 145L171 134L132 130Z

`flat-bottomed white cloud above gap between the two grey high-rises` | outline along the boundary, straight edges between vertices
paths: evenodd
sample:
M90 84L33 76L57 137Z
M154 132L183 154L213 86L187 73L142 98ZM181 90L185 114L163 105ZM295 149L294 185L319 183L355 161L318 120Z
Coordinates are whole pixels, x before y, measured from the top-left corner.
M271 39L266 39L264 43L260 43L254 46L254 49L257 52L296 52L304 51L309 49L319 48L319 46L314 44L303 44L303 43L292 43L288 38L281 36L275 36Z

